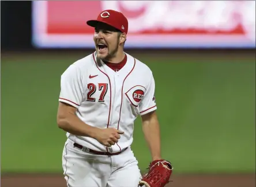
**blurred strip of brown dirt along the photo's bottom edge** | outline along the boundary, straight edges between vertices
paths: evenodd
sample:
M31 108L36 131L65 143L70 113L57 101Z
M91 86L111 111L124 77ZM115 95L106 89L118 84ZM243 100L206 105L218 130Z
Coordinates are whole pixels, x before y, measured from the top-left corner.
M255 187L255 174L174 174L172 180L168 187ZM1 176L1 187L66 187L66 182L61 175L5 175Z

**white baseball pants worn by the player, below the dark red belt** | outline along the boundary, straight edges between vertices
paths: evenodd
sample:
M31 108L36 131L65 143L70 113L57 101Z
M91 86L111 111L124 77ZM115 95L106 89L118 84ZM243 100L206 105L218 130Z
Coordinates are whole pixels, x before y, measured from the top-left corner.
M141 178L138 161L130 147L118 155L85 153L67 139L63 174L67 187L137 187Z

